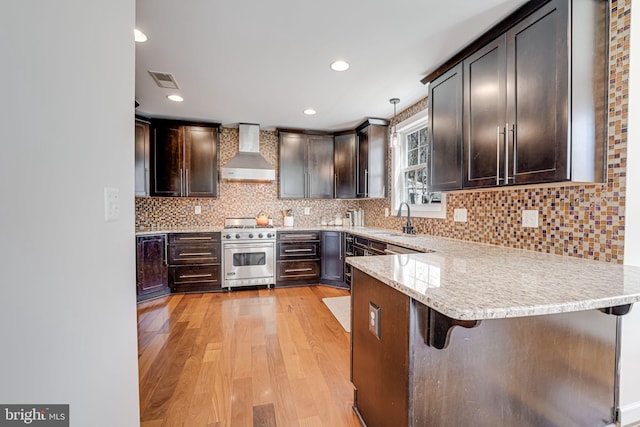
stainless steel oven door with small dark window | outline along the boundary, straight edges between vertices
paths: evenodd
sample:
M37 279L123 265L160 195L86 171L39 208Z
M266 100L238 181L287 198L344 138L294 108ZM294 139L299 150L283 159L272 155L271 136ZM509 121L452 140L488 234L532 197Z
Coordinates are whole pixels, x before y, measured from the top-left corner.
M274 283L275 243L225 243L224 286Z

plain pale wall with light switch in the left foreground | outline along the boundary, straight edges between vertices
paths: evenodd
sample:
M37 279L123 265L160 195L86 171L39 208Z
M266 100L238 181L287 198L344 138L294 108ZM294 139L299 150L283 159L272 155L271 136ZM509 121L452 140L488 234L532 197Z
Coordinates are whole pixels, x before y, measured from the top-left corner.
M73 426L139 424L134 18L135 0L0 12L0 403L69 403Z

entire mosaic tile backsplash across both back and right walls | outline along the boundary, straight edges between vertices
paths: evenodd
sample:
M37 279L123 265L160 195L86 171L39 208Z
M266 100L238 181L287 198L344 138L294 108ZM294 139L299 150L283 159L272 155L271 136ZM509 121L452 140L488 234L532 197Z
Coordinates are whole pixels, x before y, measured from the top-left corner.
M607 180L604 184L558 184L450 192L447 218L415 218L419 233L522 248L559 255L622 263L629 91L630 0L612 0L609 46ZM400 122L427 108L423 99L400 112ZM393 124L393 123L392 123ZM220 164L238 151L237 129L222 128ZM260 132L260 152L277 170L277 135ZM406 219L385 217L390 199L280 200L271 184L220 183L218 199L136 198L137 227L221 226L225 216L254 216L264 209L282 225L283 209L293 209L295 224L314 226L322 216L362 208L370 227L400 229ZM195 215L195 206L202 214ZM311 215L303 215L309 207ZM468 210L468 222L454 222L456 208ZM521 211L539 212L537 228L523 228Z

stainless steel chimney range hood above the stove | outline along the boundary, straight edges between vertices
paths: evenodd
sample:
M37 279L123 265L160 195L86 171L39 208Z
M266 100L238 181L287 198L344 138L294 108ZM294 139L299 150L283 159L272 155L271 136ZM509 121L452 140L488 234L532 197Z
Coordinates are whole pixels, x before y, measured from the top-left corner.
M274 167L260 155L260 126L240 123L239 152L220 168L220 178L228 181L275 181Z

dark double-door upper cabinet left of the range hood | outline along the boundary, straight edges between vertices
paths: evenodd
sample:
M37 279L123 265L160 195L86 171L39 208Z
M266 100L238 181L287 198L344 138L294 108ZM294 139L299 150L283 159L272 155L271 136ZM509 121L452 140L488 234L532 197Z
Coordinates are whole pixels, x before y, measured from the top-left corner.
M154 196L218 196L218 125L153 121Z

